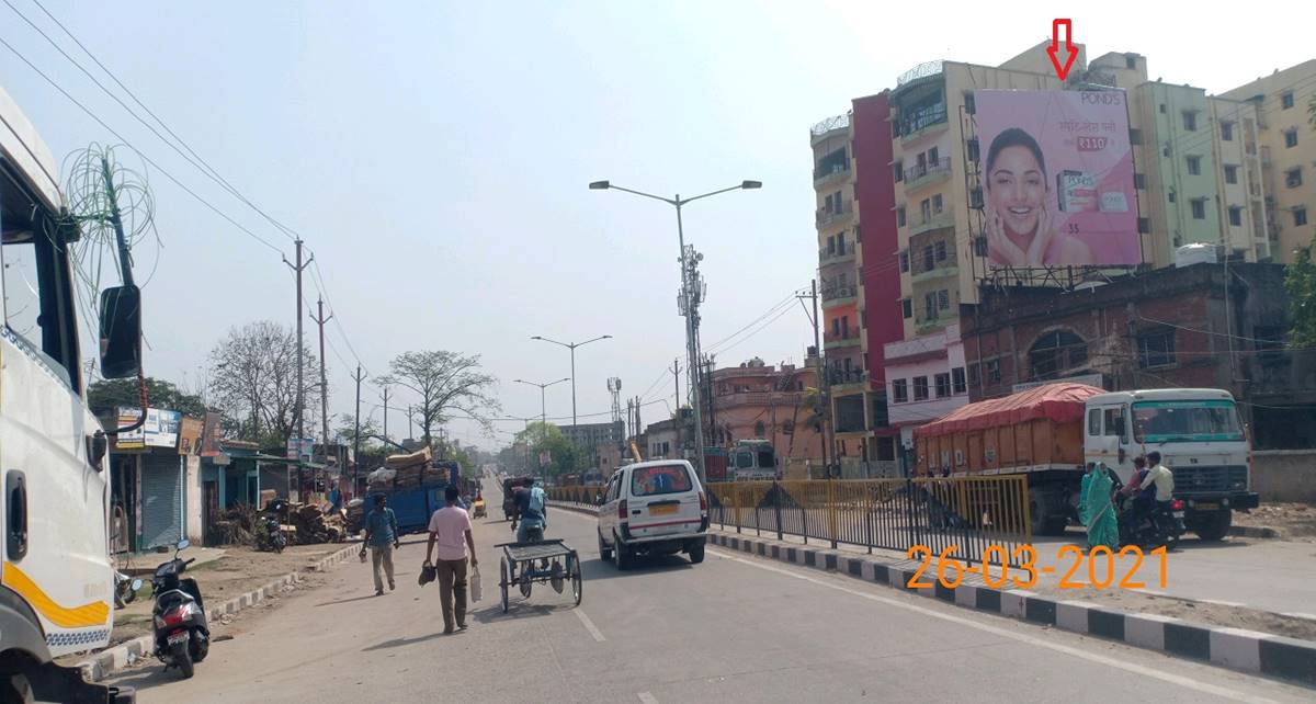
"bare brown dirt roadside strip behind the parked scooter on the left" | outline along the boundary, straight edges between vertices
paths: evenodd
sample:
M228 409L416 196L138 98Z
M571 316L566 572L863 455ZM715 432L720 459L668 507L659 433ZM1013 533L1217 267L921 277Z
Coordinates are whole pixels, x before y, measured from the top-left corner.
M234 596L257 590L270 580L288 572L305 572L311 565L346 547L346 543L293 545L283 553L261 553L251 547L225 547L222 558L188 570L187 575L196 579L205 599L207 611L215 604L222 604ZM167 555L161 555L161 562ZM147 586L142 588L137 601L114 613L114 633L111 645L133 640L151 632L150 579L142 578ZM297 588L304 588L307 583ZM213 624L212 624L213 626Z

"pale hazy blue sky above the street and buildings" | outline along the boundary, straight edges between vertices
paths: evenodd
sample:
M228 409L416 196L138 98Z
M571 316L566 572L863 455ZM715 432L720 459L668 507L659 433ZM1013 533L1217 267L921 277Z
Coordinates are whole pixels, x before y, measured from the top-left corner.
M226 330L293 324L282 261L291 238L28 26L13 8L97 71L36 0L3 1L12 7L0 5L0 38L121 136L0 46L0 86L57 159L126 142L120 161L149 178L159 245L134 253L138 275L150 274L146 372L195 390ZM701 339L719 366L755 355L800 363L809 320L799 305L776 307L807 289L817 266L811 125L926 61L998 64L1048 38L1057 11L1090 58L1136 51L1152 78L1212 93L1311 58L1311 22L1295 13L1316 14L1271 0L1233 7L1228 21L1121 1L1020 1L1008 12L863 1L41 3L247 200L304 237L322 280L307 278L307 305L324 296L334 314L330 413L353 411L358 361L374 379L403 351L442 349L480 355L499 379L500 417L537 416L540 391L512 380L569 376L570 358L529 338L611 334L576 350L580 422L608 418L609 376L622 380L622 399L651 401L645 422L666 417L675 390L665 368L678 357L684 366L672 209L590 182L665 196L763 182L686 209L686 241L704 254L708 282ZM312 346L315 333L308 318ZM570 384L546 396L547 416L570 422ZM383 420L380 403L367 380L362 416ZM401 424L391 413L393 437ZM449 432L490 449L520 428L495 425L494 440L468 421Z

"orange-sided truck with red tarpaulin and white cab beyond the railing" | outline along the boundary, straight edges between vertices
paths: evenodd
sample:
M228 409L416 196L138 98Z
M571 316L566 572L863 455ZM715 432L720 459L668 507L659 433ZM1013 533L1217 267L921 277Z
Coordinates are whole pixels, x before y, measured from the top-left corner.
M1107 392L1053 383L965 405L913 432L916 474L1028 476L1033 530L1058 534L1076 517L1088 463L1120 480L1153 450L1174 472L1184 524L1202 540L1229 533L1233 511L1257 508L1252 451L1233 396L1212 388Z

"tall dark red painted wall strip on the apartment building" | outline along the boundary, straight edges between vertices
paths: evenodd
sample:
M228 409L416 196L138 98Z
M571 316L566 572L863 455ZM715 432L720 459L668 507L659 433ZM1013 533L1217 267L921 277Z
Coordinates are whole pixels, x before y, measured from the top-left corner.
M869 379L886 388L883 345L904 337L896 250L896 193L891 171L891 105L886 92L853 101L854 197L863 243L863 308L869 337Z

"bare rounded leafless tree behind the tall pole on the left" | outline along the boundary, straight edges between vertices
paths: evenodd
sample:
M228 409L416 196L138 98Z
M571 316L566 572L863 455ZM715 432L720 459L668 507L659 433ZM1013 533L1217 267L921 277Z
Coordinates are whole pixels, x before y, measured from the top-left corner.
M301 418L316 428L312 403L320 393L316 355L303 346ZM238 421L236 432L261 443L282 443L297 429L297 333L263 320L233 328L211 351L211 393Z

